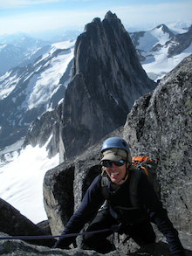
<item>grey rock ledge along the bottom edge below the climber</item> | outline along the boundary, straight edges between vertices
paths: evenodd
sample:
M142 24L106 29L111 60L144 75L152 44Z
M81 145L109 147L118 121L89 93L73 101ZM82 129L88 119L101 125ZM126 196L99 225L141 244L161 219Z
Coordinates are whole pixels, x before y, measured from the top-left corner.
M6 234L0 232L0 237L6 236ZM182 243L188 247L186 250L186 253L188 256L191 256L191 238L189 236L186 236L181 233L181 236L183 238ZM139 255L145 255L145 256L171 256L171 254L168 252L168 245L164 242L159 242L155 245L150 246L143 246L141 249L139 249L137 252L133 253L123 253L121 250L116 250L111 253L101 254L96 253L94 251L88 251L88 250L82 250L79 248L71 249L71 250L61 250L61 249L50 249L45 246L33 246L25 243L21 240L0 240L0 254L3 256L13 256L13 255L19 255L19 256L99 256L99 255L107 255L107 256L126 256L126 255L132 255L132 256L139 256Z

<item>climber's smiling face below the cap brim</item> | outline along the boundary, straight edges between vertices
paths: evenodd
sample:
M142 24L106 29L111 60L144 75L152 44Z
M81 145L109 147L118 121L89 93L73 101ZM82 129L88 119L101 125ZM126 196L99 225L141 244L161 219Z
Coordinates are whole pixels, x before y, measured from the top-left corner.
M129 163L127 163L127 167L126 167L126 162L122 166L116 166L114 163L112 163L112 166L105 167L106 174L110 177L113 183L121 185L127 180L127 177L125 180L123 180L123 178L126 175L126 170L128 168L128 165Z

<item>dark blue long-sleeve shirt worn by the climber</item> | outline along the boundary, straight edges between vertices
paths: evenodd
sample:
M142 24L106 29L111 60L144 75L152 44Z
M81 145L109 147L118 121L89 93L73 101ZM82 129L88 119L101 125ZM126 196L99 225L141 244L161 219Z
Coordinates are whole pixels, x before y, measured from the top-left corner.
M109 191L109 202L113 206L118 205L122 207L132 207L130 195L129 195L129 183L131 172L127 178L127 181L120 185L116 191ZM109 186L110 187L110 186ZM99 210L100 206L104 203L105 197L101 191L101 175L96 176L93 183L86 190L85 197L79 206L79 210L76 211L72 218L65 226L65 231L62 235L69 233L78 233L83 226L91 220ZM125 211L120 216L121 223L135 223L137 219L149 218L159 228L159 230L165 235L168 241L170 252L175 256L186 255L180 240L178 239L177 232L170 222L166 211L162 208L161 202L158 199L152 185L148 182L147 176L141 174L140 181L138 183L138 204L140 210ZM56 247L65 248L69 246L74 238L59 239Z

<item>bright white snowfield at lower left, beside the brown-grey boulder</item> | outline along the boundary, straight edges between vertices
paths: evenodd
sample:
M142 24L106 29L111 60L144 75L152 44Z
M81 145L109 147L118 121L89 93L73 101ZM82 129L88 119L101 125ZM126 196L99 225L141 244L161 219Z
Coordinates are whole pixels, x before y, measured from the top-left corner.
M59 163L58 155L48 158L48 142L42 148L28 145L0 168L0 197L35 224L47 219L43 199L45 173ZM7 153L7 160L9 157Z

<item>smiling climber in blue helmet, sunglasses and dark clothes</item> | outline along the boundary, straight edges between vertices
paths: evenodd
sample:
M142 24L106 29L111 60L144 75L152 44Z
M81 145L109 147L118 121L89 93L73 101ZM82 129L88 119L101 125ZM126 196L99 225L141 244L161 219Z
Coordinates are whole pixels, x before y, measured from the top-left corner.
M84 236L85 244L98 253L109 253L115 250L113 243L107 239L113 231L94 231L119 225L118 232L127 234L139 246L143 246L155 242L155 233L151 225L151 222L154 222L166 236L170 252L177 256L186 255L178 232L162 208L152 184L143 173L137 188L138 207L131 203L129 186L135 167L132 165L127 142L119 137L108 138L103 143L100 153L102 174L96 176L86 190L79 210L72 215L62 235L78 233L88 221L93 220L86 230L90 233ZM107 198L102 190L102 176L107 176L109 181ZM53 248L69 248L74 239L60 238Z

